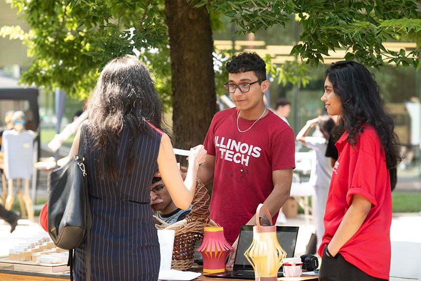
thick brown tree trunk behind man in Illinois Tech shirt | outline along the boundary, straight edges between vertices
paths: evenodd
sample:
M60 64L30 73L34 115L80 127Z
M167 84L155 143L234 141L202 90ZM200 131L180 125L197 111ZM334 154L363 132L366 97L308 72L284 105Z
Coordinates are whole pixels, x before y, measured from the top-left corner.
M216 112L211 20L206 8L194 8L186 0L165 0L165 14L171 51L174 147L189 149L203 143Z

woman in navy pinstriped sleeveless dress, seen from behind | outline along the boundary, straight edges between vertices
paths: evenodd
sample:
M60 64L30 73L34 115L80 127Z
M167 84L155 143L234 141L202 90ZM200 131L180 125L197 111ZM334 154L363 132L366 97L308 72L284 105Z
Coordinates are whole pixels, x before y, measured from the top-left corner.
M163 104L147 67L123 56L102 70L92 99L84 142L93 217L91 248L74 252L76 280L157 280L160 251L150 207L157 169L173 202L185 209L206 151L190 150L183 182L171 141L164 132ZM77 154L80 129L69 157ZM86 252L91 270L86 272Z

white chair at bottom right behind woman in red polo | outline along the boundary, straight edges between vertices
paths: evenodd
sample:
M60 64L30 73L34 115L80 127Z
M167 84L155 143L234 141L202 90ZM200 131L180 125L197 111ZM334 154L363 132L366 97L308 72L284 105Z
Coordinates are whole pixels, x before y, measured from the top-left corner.
M390 281L421 281L421 243L391 241Z

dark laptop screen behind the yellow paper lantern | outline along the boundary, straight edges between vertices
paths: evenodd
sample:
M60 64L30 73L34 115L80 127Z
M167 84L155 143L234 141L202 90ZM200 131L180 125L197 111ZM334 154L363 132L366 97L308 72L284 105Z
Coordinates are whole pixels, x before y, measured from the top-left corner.
M295 244L297 243L298 227L276 227L276 235L279 244L286 252L286 257L294 257ZM241 226L240 237L238 239L237 253L235 254L234 270L250 269L253 270L252 265L244 253L250 247L253 241L253 226Z

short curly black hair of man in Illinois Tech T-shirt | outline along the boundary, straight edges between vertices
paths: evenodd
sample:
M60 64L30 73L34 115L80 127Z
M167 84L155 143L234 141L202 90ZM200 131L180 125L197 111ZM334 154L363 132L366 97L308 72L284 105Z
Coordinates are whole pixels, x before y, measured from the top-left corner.
M257 79L266 80L266 63L256 52L243 52L234 55L225 67L228 73L253 71Z

